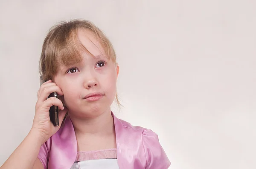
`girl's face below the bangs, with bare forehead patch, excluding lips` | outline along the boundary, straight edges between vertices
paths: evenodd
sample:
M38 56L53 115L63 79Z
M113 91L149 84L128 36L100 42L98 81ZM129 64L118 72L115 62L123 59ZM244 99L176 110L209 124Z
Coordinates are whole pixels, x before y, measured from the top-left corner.
M70 67L60 65L54 82L64 93L64 103L70 115L97 117L110 110L116 95L119 66L111 59L108 60L93 34L79 30L78 37L95 57L83 52L83 63ZM103 96L96 101L84 99L86 95L94 92L100 92Z

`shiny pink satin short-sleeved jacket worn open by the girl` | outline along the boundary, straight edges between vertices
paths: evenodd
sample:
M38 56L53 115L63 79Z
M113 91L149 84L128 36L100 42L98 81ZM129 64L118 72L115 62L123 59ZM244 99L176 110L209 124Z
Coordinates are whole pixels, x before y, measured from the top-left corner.
M113 112L119 169L168 169L170 161L152 130L118 119ZM77 142L72 121L67 116L61 129L40 149L44 169L70 169L76 160ZM48 167L48 168L47 168Z

